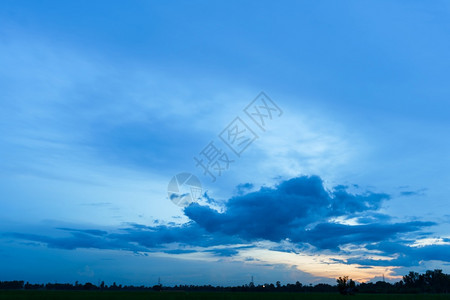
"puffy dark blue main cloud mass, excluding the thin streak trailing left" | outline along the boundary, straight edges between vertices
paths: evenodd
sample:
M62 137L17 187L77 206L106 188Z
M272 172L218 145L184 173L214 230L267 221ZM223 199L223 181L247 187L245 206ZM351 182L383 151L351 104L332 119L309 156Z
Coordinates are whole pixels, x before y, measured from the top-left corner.
M192 204L185 214L208 232L238 236L244 240L289 239L318 248L337 249L348 243L377 242L398 234L434 225L430 222L390 223L377 210L389 195L351 194L345 186L327 191L318 176L303 176L274 188L238 195L226 203L223 213ZM330 222L333 218L356 218L363 225Z

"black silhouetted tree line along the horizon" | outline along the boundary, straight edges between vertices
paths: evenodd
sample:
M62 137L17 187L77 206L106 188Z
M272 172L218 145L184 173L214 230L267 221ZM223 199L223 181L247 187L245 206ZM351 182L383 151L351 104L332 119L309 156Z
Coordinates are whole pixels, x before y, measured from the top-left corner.
M303 285L300 282L295 284L288 283L281 285L279 281L275 284L265 283L254 285L253 282L242 286L212 286L212 285L175 285L173 287L166 287L161 284L148 286L133 286L133 285L117 285L115 282L112 285L106 285L105 282L94 285L90 282L80 284L71 283L47 283L47 284L31 284L24 283L24 281L0 281L0 289L25 289L25 290L148 290L148 291L217 291L217 292L320 292L332 293L340 292L344 295L352 295L359 293L449 293L450 292L450 275L445 274L442 270L426 271L424 274L416 272L409 272L408 275L403 276L403 279L396 283L389 283L385 281L378 281L376 283L361 283L356 284L348 276L339 277L337 285L330 285L319 283L316 285Z

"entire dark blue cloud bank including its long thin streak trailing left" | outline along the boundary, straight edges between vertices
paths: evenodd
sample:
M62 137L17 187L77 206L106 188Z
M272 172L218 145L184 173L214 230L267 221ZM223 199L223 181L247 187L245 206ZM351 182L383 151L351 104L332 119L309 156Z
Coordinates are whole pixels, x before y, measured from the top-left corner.
M250 187L244 184L239 190ZM348 261L361 265L405 265L407 260L414 263L419 257L450 260L448 255L439 256L444 249L442 247L412 249L403 245L405 235L427 236L423 229L435 223L391 222L390 216L379 212L383 201L389 198L387 194L370 191L350 193L345 186L336 186L329 191L320 177L302 176L283 181L273 188L262 187L247 194L238 193L224 203L223 212L206 205L191 204L184 209L191 221L183 225L127 224L111 232L59 228L66 232L64 237L22 233L6 235L62 249L97 248L181 254L190 253L192 248L189 247L221 246L206 251L219 256L232 256L238 252L238 244L266 240L289 241L297 249L292 251L302 248L307 248L307 251L338 251L340 246L346 244L365 245L370 250L398 257L391 262L364 258ZM352 219L357 224L337 223L336 218ZM176 244L179 248L168 247L170 244ZM313 247L305 248L305 245Z

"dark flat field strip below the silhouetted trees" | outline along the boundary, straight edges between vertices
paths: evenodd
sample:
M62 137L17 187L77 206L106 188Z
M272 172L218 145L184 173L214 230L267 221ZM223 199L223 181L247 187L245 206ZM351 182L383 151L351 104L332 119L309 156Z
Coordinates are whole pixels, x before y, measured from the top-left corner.
M304 293L232 293L232 292L125 292L125 291L0 291L0 300L6 299L36 299L36 300L78 300L78 299L161 299L161 300L194 300L194 299L223 299L223 300L269 300L269 299L450 299L450 294L444 295L374 295L374 294L359 294L356 296L341 296L339 294L304 294Z

